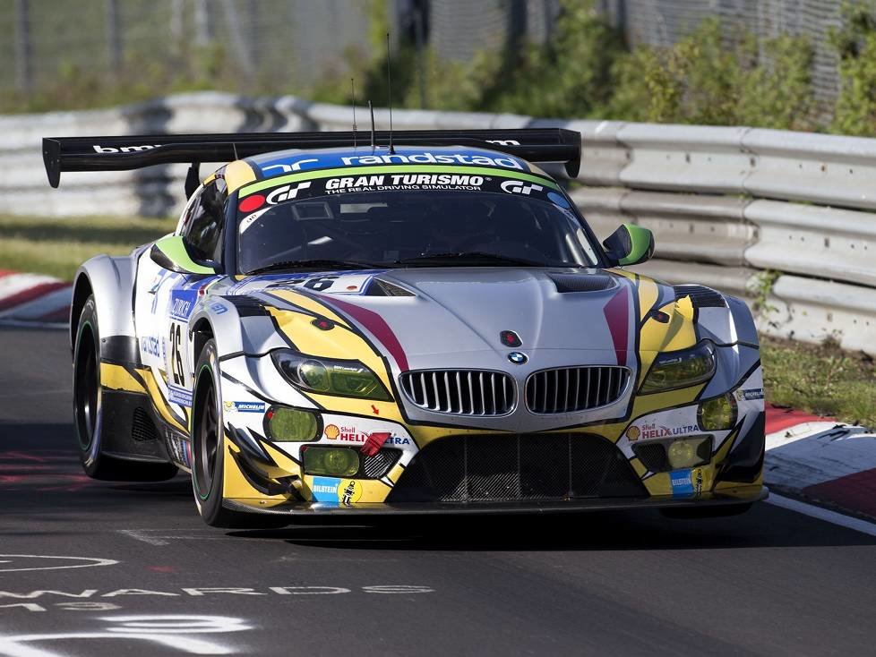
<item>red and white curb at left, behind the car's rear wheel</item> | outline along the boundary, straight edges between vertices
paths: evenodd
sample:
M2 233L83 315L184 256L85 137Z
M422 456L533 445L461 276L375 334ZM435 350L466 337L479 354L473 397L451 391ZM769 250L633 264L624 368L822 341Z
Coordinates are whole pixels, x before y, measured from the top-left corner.
M0 269L0 324L66 326L71 294L58 278Z

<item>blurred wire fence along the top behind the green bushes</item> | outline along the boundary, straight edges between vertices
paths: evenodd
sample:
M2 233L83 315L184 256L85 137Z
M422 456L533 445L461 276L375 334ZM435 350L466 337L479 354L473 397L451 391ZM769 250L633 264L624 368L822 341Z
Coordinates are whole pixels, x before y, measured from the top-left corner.
M841 4L596 0L631 44L667 46L711 16L728 34L744 29L761 42L785 33L809 37L816 98L826 106L838 91L829 30L840 26ZM368 56L375 17L394 35L417 24L437 55L466 61L519 38L550 38L560 8L559 0L0 0L0 30L10 37L0 39L0 56L14 63L0 68L0 93L28 97L65 82L82 85L86 74L125 81L142 74L149 83L157 70L199 67L202 80L220 76L231 90L298 92Z

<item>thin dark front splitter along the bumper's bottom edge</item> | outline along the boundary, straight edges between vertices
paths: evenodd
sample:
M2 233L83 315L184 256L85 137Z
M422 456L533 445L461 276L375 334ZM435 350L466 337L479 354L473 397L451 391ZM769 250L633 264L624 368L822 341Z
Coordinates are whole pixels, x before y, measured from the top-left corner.
M769 497L766 486L744 486L721 492L703 493L700 497L673 498L586 498L550 502L469 502L446 504L434 502L356 503L352 506L325 502L283 502L268 506L260 499L226 498L223 506L234 511L283 516L393 516L410 515L512 515L603 511L637 508L709 508L759 502Z

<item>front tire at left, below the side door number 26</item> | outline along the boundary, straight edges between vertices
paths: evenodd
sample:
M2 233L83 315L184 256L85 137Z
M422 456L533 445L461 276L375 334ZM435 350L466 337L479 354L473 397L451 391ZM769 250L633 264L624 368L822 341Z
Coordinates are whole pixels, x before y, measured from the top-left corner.
M192 491L203 521L224 529L271 528L288 525L277 516L232 511L222 506L225 474L224 426L220 421L222 394L216 341L206 342L194 368L192 428Z

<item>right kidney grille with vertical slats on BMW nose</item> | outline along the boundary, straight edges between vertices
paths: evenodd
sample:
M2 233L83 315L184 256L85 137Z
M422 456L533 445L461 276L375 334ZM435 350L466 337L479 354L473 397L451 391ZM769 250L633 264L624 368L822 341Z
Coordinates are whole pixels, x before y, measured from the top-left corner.
M563 367L537 371L526 382L526 406L532 413L577 413L614 404L630 381L625 367Z

